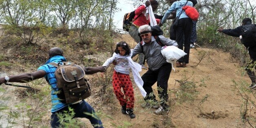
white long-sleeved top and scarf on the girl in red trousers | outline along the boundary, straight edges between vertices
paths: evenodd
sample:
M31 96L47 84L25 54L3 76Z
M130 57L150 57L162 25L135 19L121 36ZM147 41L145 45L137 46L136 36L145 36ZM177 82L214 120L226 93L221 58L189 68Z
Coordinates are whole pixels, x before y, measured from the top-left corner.
M132 50L130 55L121 56L119 54L113 53L113 56L108 58L102 66L108 67L115 60L117 64L115 65L115 71L123 74L130 74L129 70L132 70L132 75L135 81L135 84L138 86L143 97L146 97L146 91L143 88L143 80L139 75L141 71L141 65L132 61Z

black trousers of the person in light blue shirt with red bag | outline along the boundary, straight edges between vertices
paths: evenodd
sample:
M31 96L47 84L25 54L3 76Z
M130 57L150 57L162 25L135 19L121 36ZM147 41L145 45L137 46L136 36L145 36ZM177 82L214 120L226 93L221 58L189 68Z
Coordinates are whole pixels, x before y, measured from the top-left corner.
M181 18L179 19L179 23L176 29L176 41L178 43L178 48L183 50L183 33L184 33L184 52L187 55L181 57L178 61L185 62L188 64L189 62L189 52L190 52L190 38L192 31L192 20L190 18Z

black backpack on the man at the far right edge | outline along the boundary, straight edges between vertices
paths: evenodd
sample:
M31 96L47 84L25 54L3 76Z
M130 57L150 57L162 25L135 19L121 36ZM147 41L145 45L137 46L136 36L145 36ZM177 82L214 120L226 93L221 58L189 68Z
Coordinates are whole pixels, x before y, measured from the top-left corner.
M243 25L241 35L241 41L246 47L256 46L256 24Z

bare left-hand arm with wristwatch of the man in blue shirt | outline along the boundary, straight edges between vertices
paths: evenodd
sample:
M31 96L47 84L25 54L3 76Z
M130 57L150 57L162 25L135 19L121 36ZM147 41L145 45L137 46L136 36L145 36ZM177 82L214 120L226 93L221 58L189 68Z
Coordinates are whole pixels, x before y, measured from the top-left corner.
M24 73L20 75L10 75L9 82L20 82L20 83L26 83L33 81L35 79L39 79L44 77L46 75L46 72L44 70L38 70L33 73ZM0 77L0 84L6 83L5 77Z

